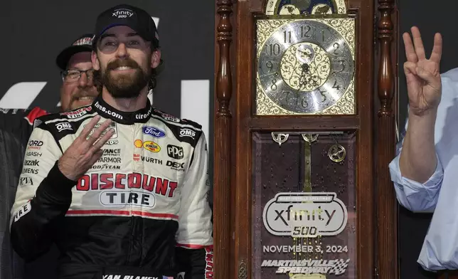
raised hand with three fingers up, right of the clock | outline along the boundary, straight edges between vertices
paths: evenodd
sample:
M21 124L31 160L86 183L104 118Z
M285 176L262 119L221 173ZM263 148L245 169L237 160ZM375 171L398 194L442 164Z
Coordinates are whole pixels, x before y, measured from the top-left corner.
M437 109L441 98L440 59L442 56L442 36L436 33L430 59L425 57L420 30L412 27L413 43L409 33L403 34L405 55L404 73L407 78L409 107L413 114L424 115ZM415 46L414 46L415 45Z

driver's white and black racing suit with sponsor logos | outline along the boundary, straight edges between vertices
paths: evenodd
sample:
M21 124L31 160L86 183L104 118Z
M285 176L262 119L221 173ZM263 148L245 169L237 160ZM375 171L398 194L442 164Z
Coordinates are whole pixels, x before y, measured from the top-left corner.
M102 157L78 181L58 159L95 117L113 120ZM92 130L93 132L93 130ZM201 126L99 96L35 122L11 210L15 251L60 249L59 278L213 278L208 154Z

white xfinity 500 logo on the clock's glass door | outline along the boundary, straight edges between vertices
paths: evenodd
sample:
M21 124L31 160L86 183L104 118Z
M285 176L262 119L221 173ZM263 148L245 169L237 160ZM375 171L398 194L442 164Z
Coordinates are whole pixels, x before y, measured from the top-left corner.
M275 236L336 236L348 213L336 193L279 193L265 205L262 221Z

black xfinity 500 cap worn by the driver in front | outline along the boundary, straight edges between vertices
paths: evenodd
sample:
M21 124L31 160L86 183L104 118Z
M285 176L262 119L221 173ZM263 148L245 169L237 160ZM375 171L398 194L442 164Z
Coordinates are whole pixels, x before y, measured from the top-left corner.
M102 33L114 26L129 26L144 40L150 41L152 48L159 48L159 34L151 16L147 11L127 4L114 6L97 16L92 48L97 47L97 41Z

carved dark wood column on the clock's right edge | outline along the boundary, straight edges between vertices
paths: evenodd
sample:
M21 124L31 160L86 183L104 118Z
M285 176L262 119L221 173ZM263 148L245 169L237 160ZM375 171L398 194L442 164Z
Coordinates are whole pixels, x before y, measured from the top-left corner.
M393 183L388 164L395 156L395 114L391 102L394 97L395 77L391 43L393 41L394 0L378 0L378 41L380 58L378 67L378 159L377 159L377 267L378 278L398 278L398 213Z

